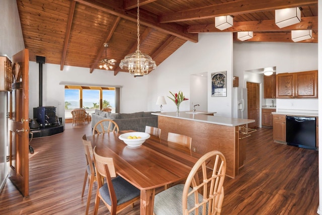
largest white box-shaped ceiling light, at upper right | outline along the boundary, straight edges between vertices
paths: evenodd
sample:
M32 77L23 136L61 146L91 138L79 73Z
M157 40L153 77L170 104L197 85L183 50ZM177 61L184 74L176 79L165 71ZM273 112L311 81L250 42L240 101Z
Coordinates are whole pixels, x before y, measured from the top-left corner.
M275 10L275 24L284 28L301 22L300 8L286 8Z

